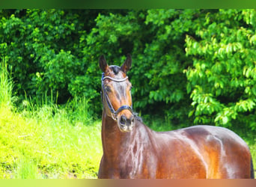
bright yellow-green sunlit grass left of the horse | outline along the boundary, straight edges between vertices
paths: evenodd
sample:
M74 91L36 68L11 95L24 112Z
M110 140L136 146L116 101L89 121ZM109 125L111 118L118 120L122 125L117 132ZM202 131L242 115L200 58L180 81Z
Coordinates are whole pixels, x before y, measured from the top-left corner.
M0 179L95 178L102 155L100 121L88 114L88 100L59 106L43 98L13 110L13 83L1 64Z

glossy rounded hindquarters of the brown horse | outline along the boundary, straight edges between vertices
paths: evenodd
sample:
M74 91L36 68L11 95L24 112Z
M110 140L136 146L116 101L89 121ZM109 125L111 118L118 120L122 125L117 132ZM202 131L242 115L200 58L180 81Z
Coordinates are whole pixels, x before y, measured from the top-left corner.
M191 126L174 132L201 158L207 178L251 177L249 147L231 130L217 126Z

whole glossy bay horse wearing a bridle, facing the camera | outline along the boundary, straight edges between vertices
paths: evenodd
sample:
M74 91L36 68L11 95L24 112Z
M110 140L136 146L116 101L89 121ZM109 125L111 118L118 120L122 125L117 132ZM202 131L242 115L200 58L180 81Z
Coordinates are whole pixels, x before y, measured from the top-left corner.
M221 179L254 178L252 156L245 141L231 130L192 126L154 132L132 111L127 71L100 57L102 76L103 157L99 178Z

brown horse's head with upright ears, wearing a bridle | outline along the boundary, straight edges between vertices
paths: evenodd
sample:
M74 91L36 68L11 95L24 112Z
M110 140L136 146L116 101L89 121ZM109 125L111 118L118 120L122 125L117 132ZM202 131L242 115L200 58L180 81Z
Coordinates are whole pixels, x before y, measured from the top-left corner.
M135 124L132 112L132 84L127 77L131 64L130 55L127 55L121 67L109 66L104 56L100 56L100 69L103 71L101 79L103 110L118 122L121 132L130 132Z

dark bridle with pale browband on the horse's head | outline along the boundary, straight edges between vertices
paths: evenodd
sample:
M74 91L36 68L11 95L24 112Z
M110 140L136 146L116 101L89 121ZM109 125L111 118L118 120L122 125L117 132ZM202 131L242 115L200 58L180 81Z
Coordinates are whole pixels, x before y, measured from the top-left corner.
M110 76L105 76L104 73L103 73L103 76L101 78L101 88L102 88L102 91L100 92L101 94L101 101L103 102L103 96L105 96L105 99L106 99L106 103L109 107L109 110L111 111L111 114L112 114L112 119L113 120L117 120L118 119L118 113L121 112L121 111L124 111L124 110L129 110L130 112L132 112L133 114L133 111L132 111L132 106L129 106L129 105L122 105L120 108L118 108L118 110L115 111L115 109L113 108L110 100L109 100L109 96L108 94L106 93L106 89L104 88L104 80L105 79L110 79L114 82L125 82L127 79L128 79L128 76L126 76L124 79L115 79L115 78L112 78ZM103 103L104 105L104 103Z

